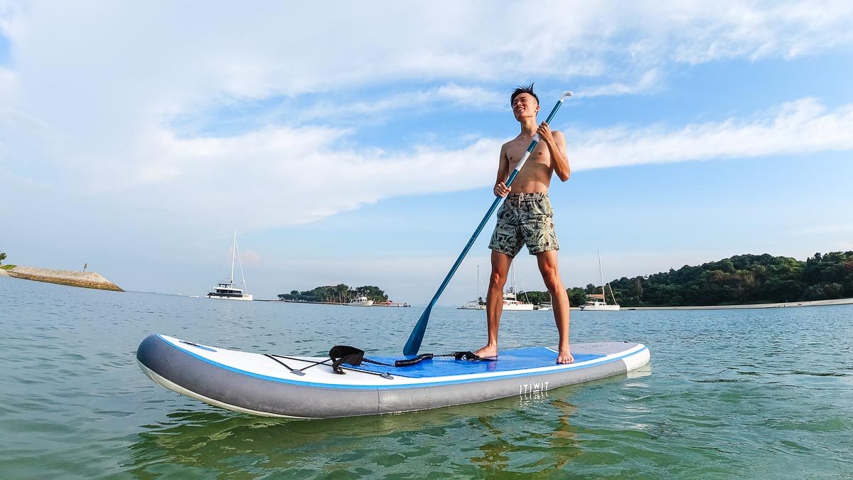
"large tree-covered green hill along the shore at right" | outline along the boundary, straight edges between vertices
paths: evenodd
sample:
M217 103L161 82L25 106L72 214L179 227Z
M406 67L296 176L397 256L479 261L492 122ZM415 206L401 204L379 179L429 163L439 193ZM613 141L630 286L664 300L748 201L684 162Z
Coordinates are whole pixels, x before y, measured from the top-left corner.
M853 297L853 251L820 253L800 261L790 257L735 255L700 266L610 282L622 307L710 307L822 301ZM566 289L572 305L601 285ZM535 304L548 292L525 292Z

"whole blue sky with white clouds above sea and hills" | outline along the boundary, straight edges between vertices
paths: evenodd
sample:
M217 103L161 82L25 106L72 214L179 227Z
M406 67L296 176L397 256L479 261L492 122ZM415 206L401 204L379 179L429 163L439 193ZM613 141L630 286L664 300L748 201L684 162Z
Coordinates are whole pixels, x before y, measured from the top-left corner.
M853 249L853 3L0 0L0 251L424 305L535 82L566 287ZM483 295L486 225L439 305ZM519 290L544 290L523 250ZM479 281L478 281L479 272Z

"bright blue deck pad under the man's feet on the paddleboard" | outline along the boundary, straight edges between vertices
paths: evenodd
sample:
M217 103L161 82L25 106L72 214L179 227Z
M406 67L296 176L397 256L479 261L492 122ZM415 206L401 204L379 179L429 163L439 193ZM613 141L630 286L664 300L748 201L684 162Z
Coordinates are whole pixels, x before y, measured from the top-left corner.
M566 367L573 366L577 363L589 360L599 359L605 355L584 355L576 354L574 364L568 364ZM400 357L375 357L369 354L365 358L374 361L380 361L389 365L394 365L394 360L403 360ZM414 357L403 357L414 358ZM400 377L409 378L432 378L445 377L450 375L469 375L472 373L484 372L514 372L523 371L541 366L557 365L557 354L544 347L517 348L507 351L498 351L497 360L454 360L453 357L435 357L432 360L423 360L421 363L413 366L381 366L370 363L363 363L360 366L346 365L346 368L360 370L362 372L374 373L391 373Z

